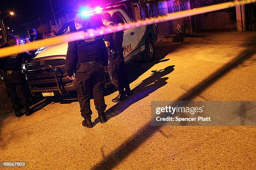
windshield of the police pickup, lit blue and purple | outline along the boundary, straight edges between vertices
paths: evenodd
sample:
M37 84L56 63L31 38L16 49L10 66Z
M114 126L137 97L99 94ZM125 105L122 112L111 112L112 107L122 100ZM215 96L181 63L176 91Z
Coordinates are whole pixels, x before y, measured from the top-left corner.
M90 16L87 18L88 25L87 27L90 28L100 28L103 26L102 21L101 21L101 15L94 15ZM70 32L76 31L75 25L74 25L74 19L68 21L66 24L61 27L59 32L56 34L57 35L62 35L62 34L68 34Z

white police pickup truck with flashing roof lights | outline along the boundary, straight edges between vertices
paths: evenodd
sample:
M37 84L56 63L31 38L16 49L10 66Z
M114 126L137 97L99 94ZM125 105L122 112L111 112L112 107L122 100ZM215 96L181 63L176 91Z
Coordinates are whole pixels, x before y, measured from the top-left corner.
M97 12L87 17L88 28L102 26L101 16L110 13L114 23L131 22L125 5L100 8ZM74 32L74 19L69 20L57 33L56 36ZM132 60L138 55L143 56L145 62L154 60L154 42L157 40L156 25L142 26L124 30L123 55L125 62ZM64 43L56 46L41 47L36 52L36 57L23 66L26 79L33 96L54 96L69 91L75 91L74 83L67 77L65 71L65 58L67 45Z

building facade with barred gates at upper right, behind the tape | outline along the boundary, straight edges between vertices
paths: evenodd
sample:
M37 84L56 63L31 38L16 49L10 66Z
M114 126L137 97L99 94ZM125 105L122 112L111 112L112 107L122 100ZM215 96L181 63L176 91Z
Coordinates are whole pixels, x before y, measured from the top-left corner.
M146 17L166 15L233 0L144 0ZM191 32L256 31L256 4L239 5L225 10L203 13L192 17L158 23L159 35L177 32L177 25L184 25Z

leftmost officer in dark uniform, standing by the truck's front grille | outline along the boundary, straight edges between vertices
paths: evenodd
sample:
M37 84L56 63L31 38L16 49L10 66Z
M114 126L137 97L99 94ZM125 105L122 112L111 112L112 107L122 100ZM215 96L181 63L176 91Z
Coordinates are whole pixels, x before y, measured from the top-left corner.
M9 37L8 46L12 45L18 46L18 38L15 36ZM0 69L3 70L6 90L17 117L23 115L20 112L23 109L22 107L25 107L26 116L31 115L33 112L28 106L29 100L25 91L26 79L21 71L21 67L23 62L32 59L34 56L34 53L24 52L0 59Z

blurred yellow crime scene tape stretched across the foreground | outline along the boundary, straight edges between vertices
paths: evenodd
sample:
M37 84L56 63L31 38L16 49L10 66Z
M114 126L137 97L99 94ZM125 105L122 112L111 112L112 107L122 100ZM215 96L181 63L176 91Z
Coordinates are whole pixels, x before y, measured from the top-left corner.
M38 41L35 41L32 43L26 43L24 45L4 47L4 48L0 49L0 58L7 57L12 54L25 52L25 51L31 51L34 49L38 49L40 47L48 46L48 45L58 45L58 44L62 44L64 42L81 40L86 37L104 35L104 34L108 34L111 32L127 30L129 28L135 28L135 27L140 27L140 26L144 26L144 25L161 23L164 21L175 20L175 19L189 17L189 16L198 15L198 14L202 14L202 13L208 13L208 12L212 12L212 11L216 11L216 10L223 10L226 8L234 7L236 5L244 5L244 4L253 3L253 2L256 2L256 0L240 0L240 1L233 1L233 2L225 2L225 3L221 3L221 4L209 5L206 7L199 7L199 8L180 11L180 12L176 12L176 13L169 13L167 15L157 16L157 17L153 17L153 18L146 18L143 20L138 20L136 22L118 24L116 26L109 26L108 28L102 27L102 28L98 28L98 29L89 29L89 30L87 30L87 32L79 31L79 32L74 32L74 33L70 33L70 34L51 37L49 39L38 40Z

